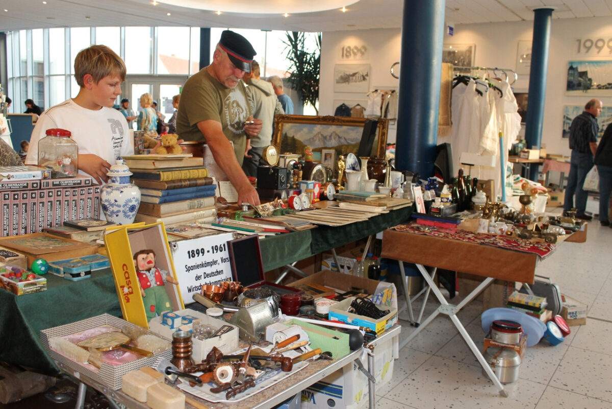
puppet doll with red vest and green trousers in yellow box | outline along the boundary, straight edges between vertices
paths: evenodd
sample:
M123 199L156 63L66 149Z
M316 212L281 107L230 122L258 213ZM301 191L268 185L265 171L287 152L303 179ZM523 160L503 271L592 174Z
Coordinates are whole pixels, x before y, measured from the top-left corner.
M156 315L162 315L162 312L172 311L170 297L164 284L169 282L177 285L179 282L170 272L155 267L155 252L140 250L135 253L134 266L140 283L140 293L143 296L147 320L151 320Z

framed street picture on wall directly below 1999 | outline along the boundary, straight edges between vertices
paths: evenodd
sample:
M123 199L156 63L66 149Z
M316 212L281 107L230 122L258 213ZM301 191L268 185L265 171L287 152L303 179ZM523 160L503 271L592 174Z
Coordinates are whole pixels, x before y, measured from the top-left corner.
M612 59L567 62L565 94L612 96Z

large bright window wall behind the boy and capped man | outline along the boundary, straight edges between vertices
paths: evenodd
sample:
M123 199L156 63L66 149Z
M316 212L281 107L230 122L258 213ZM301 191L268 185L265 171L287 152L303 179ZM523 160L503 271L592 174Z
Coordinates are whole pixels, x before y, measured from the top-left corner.
M196 27L76 27L8 32L5 91L13 100L9 111L23 112L24 100L28 98L48 108L75 97L79 92L73 75L76 54L95 43L115 51L124 60L128 77L138 78L136 82L127 78L126 93L121 97L131 97L133 108L138 109L138 97L144 90L138 86L151 88L149 91L154 92L161 109L171 114L171 97L179 92L184 79L200 70L200 30ZM284 31L233 30L253 44L262 77L288 76ZM222 31L211 29L211 59Z

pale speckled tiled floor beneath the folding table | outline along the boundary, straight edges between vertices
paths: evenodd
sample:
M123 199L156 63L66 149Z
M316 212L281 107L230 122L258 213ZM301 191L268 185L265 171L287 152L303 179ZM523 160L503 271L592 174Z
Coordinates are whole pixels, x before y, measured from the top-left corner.
M597 207L589 201L588 210L596 212ZM563 242L539 263L537 274L551 277L563 293L588 304L588 323L572 326L572 334L556 347L542 341L528 348L519 380L505 386L509 397L499 396L450 319L439 315L400 350L393 380L376 391L377 407L612 409L610 249L612 228L594 221L589 223L586 243ZM438 306L432 298L425 317ZM474 301L459 313L479 348L485 336L481 312L482 303ZM407 312L400 315L407 317ZM401 342L414 329L407 321L400 322Z

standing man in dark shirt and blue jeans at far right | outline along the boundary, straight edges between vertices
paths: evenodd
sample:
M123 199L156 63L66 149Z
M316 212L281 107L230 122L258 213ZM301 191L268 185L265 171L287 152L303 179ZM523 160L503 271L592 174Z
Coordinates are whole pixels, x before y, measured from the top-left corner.
M599 125L597 117L602 113L603 103L599 99L592 99L584 105L584 111L573 119L570 125L570 173L567 176L565 188L565 212L574 208L574 193L576 194L576 217L582 220L591 220L586 211L588 193L582 188L584 179L593 167L593 157L597 152L597 133Z

